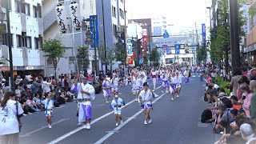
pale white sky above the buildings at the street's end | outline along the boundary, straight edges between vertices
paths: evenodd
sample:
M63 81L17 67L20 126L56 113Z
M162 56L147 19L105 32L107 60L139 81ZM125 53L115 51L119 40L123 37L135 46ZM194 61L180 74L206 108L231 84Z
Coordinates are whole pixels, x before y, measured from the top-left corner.
M126 0L127 17L152 18L165 16L168 24L194 27L206 22L208 0ZM209 16L208 16L209 18Z

